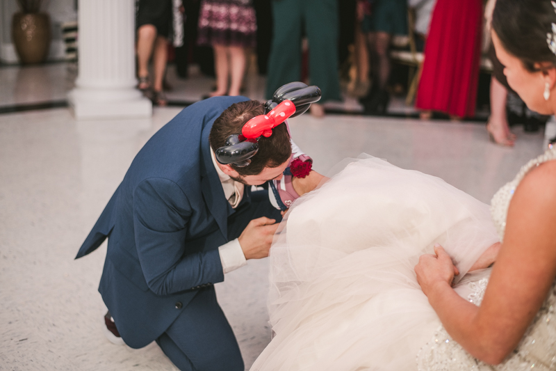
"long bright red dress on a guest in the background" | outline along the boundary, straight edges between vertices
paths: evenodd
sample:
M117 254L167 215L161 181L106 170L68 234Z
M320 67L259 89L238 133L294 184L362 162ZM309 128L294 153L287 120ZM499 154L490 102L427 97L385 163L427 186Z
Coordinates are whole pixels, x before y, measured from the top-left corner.
M415 106L473 117L482 44L482 0L438 0Z

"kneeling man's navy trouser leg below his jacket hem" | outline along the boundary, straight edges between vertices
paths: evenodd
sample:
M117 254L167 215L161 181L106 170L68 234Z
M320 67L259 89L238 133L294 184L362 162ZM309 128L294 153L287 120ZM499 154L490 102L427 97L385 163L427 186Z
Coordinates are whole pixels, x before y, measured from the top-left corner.
M245 370L234 331L216 301L213 286L199 290L156 342L182 371Z

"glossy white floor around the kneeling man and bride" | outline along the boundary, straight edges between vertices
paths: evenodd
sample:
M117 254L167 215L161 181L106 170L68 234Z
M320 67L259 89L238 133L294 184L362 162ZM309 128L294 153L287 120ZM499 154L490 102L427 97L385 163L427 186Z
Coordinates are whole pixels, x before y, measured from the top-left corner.
M178 112L96 122L67 109L0 115L0 370L175 370L154 343L133 350L104 338L106 247L73 258L136 152ZM518 131L514 149L500 148L481 125L440 121L301 116L291 127L323 173L366 152L484 202L543 143ZM247 368L270 340L267 276L266 260L250 261L216 285Z

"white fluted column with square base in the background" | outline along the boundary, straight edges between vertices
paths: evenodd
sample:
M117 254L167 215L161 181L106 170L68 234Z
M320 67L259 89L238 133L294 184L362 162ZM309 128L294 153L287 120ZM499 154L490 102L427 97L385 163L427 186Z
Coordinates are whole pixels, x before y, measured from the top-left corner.
M79 0L79 76L69 95L76 118L152 116L136 89L134 7L134 0Z

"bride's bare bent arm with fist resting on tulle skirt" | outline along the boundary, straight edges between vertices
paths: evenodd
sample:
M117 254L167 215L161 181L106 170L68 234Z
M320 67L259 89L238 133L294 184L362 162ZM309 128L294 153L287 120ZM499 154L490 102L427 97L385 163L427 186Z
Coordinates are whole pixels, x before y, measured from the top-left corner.
M505 239L480 307L452 290L442 248L415 271L445 329L471 355L500 363L518 345L556 276L556 161L534 168L509 206Z

